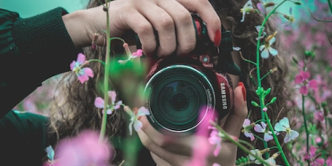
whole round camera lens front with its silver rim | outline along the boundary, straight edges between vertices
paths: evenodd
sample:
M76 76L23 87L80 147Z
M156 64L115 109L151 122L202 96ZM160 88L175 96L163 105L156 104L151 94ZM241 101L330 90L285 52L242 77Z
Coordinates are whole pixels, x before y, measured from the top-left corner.
M200 111L214 109L214 89L194 67L168 66L153 74L145 86L148 118L157 129L188 132L199 125ZM208 108L202 110L202 108Z

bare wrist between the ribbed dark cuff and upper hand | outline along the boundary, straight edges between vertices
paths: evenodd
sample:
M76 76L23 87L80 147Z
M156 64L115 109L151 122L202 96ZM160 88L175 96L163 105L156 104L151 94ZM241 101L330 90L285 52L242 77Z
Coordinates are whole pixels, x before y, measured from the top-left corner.
M89 31L89 15L87 10L78 10L62 17L66 30L76 48L89 46L92 41L92 33Z

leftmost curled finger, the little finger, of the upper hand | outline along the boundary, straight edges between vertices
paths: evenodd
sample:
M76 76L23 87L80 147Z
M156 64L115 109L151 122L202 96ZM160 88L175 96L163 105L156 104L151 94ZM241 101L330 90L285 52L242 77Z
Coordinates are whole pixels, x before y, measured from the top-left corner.
M127 20L129 28L135 31L140 39L144 53L152 53L157 47L153 25L146 20L141 13L138 13L135 10L132 10L128 14L124 14L123 17Z

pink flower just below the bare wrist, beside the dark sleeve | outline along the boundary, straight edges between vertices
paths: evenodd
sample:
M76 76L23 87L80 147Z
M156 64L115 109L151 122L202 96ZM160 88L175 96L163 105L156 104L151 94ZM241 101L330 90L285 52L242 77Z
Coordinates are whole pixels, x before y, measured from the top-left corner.
M88 64L89 61L85 60L85 56L82 53L79 53L77 56L77 61L73 61L70 64L70 69L77 75L78 80L81 83L84 83L89 80L89 76L93 77L92 69L89 67L83 67Z

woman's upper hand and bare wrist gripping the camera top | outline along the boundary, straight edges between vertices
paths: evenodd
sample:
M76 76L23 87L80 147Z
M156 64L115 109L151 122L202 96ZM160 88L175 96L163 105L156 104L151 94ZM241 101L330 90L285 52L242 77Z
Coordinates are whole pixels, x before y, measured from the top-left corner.
M117 0L109 2L109 31L111 37L127 39L127 34L134 31L141 43L144 53L149 55L156 51L159 57L167 56L174 51L186 54L195 48L195 28L190 13L198 13L206 23L208 35L214 42L215 34L221 29L221 22L208 0ZM76 22L71 21L76 14ZM79 16L81 15L81 20ZM82 19L82 16L84 19ZM93 34L106 30L106 13L103 6L77 11L64 16L66 28L77 45L89 45ZM66 23L67 22L67 23ZM86 31L76 31L83 27ZM155 39L157 31L159 46ZM83 33L83 34L82 34ZM220 37L220 35L219 35ZM134 36L130 36L134 39ZM104 39L99 38L100 45Z

